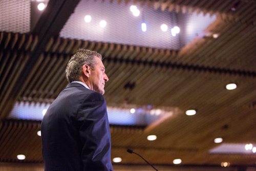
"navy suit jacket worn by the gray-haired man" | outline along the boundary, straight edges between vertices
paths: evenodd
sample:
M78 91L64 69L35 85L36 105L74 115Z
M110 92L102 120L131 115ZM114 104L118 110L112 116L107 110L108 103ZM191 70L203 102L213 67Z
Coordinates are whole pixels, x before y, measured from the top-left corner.
M104 97L70 83L50 105L41 123L45 170L113 170Z

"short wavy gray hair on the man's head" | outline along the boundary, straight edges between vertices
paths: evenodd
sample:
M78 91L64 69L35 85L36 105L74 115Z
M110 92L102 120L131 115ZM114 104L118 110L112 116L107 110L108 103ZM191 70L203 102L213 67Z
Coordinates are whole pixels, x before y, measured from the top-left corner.
M96 51L78 49L69 60L66 68L66 77L68 81L79 81L82 75L82 66L84 64L94 69L94 66L97 64L94 56L97 56L100 58L100 60L102 60L102 56Z

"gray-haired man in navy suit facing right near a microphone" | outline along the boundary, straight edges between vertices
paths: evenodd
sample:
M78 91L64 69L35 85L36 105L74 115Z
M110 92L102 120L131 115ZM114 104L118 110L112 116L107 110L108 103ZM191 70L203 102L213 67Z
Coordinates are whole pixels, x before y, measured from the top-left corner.
M109 80L99 53L79 49L66 68L70 82L41 123L45 170L113 170L104 85Z

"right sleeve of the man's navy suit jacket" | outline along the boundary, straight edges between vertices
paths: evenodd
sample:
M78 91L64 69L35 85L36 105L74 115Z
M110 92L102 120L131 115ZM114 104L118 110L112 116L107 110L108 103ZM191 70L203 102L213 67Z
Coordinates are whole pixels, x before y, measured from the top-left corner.
M78 109L77 120L83 170L113 170L104 97L96 92L87 96Z

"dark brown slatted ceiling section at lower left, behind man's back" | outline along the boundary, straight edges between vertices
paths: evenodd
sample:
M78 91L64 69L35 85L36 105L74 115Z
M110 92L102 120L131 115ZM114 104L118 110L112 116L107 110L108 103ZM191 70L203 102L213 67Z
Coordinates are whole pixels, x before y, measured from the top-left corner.
M18 154L25 154L29 162L41 162L41 139L37 131L40 122L5 121L0 124L0 159L2 162L17 161Z

